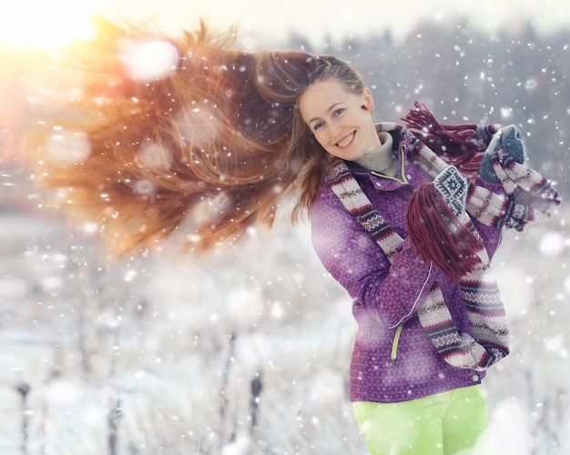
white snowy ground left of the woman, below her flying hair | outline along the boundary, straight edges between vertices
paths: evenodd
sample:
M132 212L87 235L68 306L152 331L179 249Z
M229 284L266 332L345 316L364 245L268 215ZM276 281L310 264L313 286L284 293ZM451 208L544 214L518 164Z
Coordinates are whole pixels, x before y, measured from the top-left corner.
M227 257L154 258L106 268L90 253L97 248L68 238L63 225L34 217L8 224L17 267L4 267L18 284L5 287L17 292L5 291L3 300L0 397L13 404L2 416L10 437L0 449L17 453L22 416L14 387L25 380L34 410L28 449L41 446L46 454L105 452L117 400L125 453L231 454L265 446L363 453L346 396L354 325L340 306L350 302L306 249L306 227L258 232L261 244L273 242L273 253L260 262L235 251L232 257L249 259L245 266L224 268L234 262ZM18 232L34 232L33 254ZM64 261L70 244L74 253ZM290 251L291 244L302 248ZM301 257L309 258L302 266ZM267 268L277 259L279 268ZM262 387L252 430L255 378ZM335 430L339 422L351 436Z

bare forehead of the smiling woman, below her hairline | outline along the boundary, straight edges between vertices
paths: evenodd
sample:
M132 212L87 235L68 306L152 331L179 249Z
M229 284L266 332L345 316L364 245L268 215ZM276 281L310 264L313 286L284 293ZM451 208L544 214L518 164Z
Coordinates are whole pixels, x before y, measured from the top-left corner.
M313 84L300 96L300 115L305 121L325 116L328 109L338 103L346 103L355 95L338 80L331 79Z

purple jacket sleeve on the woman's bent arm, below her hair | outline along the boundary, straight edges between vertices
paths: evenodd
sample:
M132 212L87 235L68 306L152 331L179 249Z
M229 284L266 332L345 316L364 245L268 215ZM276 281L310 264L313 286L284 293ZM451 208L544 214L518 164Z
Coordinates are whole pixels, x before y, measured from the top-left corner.
M441 274L417 257L404 239L393 264L372 236L330 195L321 197L311 213L312 242L323 266L386 328L410 319Z

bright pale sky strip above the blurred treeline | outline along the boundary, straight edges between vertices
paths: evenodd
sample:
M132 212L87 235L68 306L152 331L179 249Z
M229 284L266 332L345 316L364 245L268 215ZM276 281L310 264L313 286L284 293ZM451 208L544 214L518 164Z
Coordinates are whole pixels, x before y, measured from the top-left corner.
M0 11L0 45L41 47L88 38L94 11L151 19L167 32L193 28L198 15L220 27L239 22L242 34L260 41L253 45L263 45L264 36L284 40L291 29L317 43L386 29L398 39L418 19L445 24L458 14L490 34L528 19L548 33L570 20L568 0L0 0Z

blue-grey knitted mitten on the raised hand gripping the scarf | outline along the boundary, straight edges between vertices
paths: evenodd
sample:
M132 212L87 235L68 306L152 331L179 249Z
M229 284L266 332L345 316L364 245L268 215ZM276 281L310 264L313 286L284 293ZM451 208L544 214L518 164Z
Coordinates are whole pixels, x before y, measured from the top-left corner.
M489 146L483 154L479 175L488 182L500 183L497 177L493 160L499 159L502 155L504 159L510 157L515 162L523 164L526 159L526 150L524 148L523 135L521 130L514 125L504 126L494 136Z

